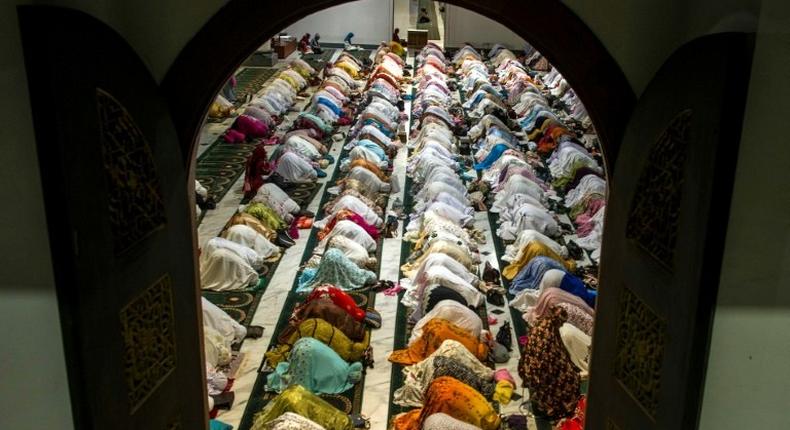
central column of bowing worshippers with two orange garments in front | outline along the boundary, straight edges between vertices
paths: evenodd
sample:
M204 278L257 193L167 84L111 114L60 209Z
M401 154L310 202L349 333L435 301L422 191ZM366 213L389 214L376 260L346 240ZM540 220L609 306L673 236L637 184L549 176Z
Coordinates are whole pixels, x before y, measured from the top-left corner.
M411 333L389 357L404 366L393 402L414 409L393 417L391 428L498 429L496 405L509 403L517 384L507 369L492 367L509 354L480 316L497 286L477 275L485 239L473 226L472 178L459 153L464 111L442 50L428 44L417 61L407 174L419 191L411 193L404 240L412 253L401 268Z

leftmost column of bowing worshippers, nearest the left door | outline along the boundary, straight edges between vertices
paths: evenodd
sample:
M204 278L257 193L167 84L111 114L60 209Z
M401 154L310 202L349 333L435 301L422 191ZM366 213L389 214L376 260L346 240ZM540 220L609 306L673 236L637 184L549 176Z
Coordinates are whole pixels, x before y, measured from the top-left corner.
M281 158L270 159L266 147L274 145L280 157L285 153L299 154L300 160L310 163L312 179L317 177L318 161L331 161L321 143L322 136L309 131L303 124L297 124L284 137L274 135L277 125L296 102L296 95L307 89L308 81L314 81L316 75L307 63L294 61L242 106L242 113L226 132L229 142L234 140L228 136L243 133L243 137L236 137L258 144L246 165L244 191L249 203L228 220L218 237L208 240L200 249L200 281L204 290L225 292L255 288L262 281L258 271L264 264L277 261L282 248L294 243L291 238L296 234L294 229L310 224L312 214L302 210L287 192L293 184L277 175L277 169L282 168L278 166L282 164ZM291 136L304 136L300 141L303 146L289 144ZM315 152L308 152L307 145ZM197 192L205 193L205 190L198 187ZM241 325L205 298L202 307L209 406L213 415L215 408L230 408L234 401L229 380L236 357L234 347L245 338L260 337L263 328ZM222 428L217 422L212 425Z

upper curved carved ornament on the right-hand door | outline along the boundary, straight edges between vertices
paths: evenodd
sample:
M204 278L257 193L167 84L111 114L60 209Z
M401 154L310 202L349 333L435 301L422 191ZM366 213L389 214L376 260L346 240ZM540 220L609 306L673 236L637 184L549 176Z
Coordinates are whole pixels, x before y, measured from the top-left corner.
M687 109L670 121L650 148L626 226L626 237L668 269L675 253L690 127Z

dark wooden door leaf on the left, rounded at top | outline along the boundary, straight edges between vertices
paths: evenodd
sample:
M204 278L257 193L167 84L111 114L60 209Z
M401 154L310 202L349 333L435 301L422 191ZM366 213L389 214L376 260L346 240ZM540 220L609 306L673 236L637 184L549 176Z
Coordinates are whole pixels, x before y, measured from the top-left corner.
M206 427L187 171L112 29L19 8L75 426Z

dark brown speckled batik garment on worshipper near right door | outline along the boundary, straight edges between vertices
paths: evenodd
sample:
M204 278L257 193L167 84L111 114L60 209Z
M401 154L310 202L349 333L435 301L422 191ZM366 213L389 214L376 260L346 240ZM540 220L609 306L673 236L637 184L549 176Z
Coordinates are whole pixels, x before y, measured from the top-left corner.
M581 395L579 369L571 361L559 332L566 319L564 309L553 307L537 320L518 366L530 401L551 419L572 415Z

